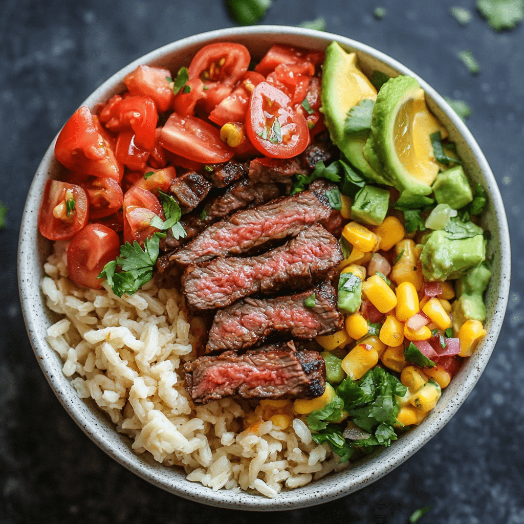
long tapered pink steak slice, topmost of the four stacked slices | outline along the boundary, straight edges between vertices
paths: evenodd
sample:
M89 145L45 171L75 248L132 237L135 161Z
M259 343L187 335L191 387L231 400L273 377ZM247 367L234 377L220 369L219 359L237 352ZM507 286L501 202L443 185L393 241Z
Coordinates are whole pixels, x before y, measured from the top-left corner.
M292 196L237 211L215 222L189 244L173 253L180 266L198 264L224 255L248 253L270 241L296 235L302 226L327 219L331 206L325 194L302 191Z

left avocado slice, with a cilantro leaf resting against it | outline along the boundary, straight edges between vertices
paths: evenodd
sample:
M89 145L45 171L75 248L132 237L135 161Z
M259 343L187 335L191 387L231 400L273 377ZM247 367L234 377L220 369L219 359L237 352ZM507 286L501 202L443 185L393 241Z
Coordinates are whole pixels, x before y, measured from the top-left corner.
M347 112L363 100L375 101L377 97L373 84L357 67L356 53L347 53L337 42L331 42L322 68L321 111L333 143L364 178L389 183L364 158L363 148L370 130L353 133L344 130Z

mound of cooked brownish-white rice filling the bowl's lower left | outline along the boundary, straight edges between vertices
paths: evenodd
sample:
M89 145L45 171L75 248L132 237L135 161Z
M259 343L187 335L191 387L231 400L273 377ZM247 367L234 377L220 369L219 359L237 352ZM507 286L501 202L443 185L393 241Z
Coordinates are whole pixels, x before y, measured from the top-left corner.
M80 398L91 397L136 453L184 468L188 480L213 490L254 490L276 497L312 478L347 466L318 445L301 419L286 430L258 420L244 400L224 398L194 406L184 388L183 364L196 357L199 319L189 319L183 297L148 282L131 297L111 288L80 289L67 277L67 243L56 242L45 264L42 291L63 316L47 341L73 377Z

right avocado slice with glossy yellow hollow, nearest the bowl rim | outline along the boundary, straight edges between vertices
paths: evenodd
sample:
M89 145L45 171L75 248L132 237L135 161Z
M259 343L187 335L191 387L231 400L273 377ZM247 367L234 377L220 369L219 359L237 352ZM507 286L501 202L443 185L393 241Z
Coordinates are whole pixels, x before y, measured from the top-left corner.
M416 79L389 79L378 93L372 118L373 150L383 176L399 191L428 195L439 172L430 135L440 130Z

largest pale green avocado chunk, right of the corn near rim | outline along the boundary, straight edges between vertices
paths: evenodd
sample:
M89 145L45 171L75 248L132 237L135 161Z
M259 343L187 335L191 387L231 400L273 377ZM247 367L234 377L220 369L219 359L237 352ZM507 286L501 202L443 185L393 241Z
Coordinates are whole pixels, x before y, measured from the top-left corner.
M450 239L443 230L433 231L422 247L420 261L426 281L461 278L486 258L482 235Z

